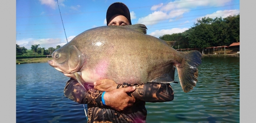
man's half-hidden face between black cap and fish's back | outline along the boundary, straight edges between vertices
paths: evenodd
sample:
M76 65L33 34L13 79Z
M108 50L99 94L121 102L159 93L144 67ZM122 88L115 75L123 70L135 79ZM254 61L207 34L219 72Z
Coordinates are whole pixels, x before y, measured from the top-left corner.
M112 16L109 20L111 20L108 24L108 26L125 26L130 25L129 20L120 14L115 14Z

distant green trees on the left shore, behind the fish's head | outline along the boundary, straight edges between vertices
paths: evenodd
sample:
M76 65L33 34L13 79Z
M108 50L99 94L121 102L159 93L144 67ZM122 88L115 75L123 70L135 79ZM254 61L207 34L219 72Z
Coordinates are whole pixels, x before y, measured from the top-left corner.
M57 45L56 48L49 47L48 49L38 47L40 44L31 45L31 50L27 50L27 48L20 47L16 44L16 56L43 56L43 55L51 55L53 51L60 48L60 45Z

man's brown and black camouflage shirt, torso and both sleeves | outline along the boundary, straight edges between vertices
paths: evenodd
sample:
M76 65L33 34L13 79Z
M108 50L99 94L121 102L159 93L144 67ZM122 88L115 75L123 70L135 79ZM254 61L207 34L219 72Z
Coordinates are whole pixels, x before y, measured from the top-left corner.
M124 83L121 87L136 86L131 95L136 99L133 106L116 111L102 104L103 91L93 89L87 91L74 79L66 83L64 95L77 103L87 104L88 123L145 123L147 110L145 102L172 101L174 93L170 84L146 83L130 85Z

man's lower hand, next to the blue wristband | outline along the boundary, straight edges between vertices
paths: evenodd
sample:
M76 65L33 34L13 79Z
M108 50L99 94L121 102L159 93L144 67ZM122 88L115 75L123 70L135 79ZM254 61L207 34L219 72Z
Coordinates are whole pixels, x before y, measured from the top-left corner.
M127 93L136 90L135 87L123 87L120 89L112 90L104 94L106 106L110 106L117 111L122 111L126 107L133 106L135 98L130 97Z

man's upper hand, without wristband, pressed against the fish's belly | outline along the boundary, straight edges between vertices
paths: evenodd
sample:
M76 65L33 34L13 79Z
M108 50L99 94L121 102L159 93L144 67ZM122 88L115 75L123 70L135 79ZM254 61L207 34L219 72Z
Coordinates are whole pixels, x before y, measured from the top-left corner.
M101 90L105 92L111 92L117 88L117 84L110 79L103 79L93 83L95 90Z

